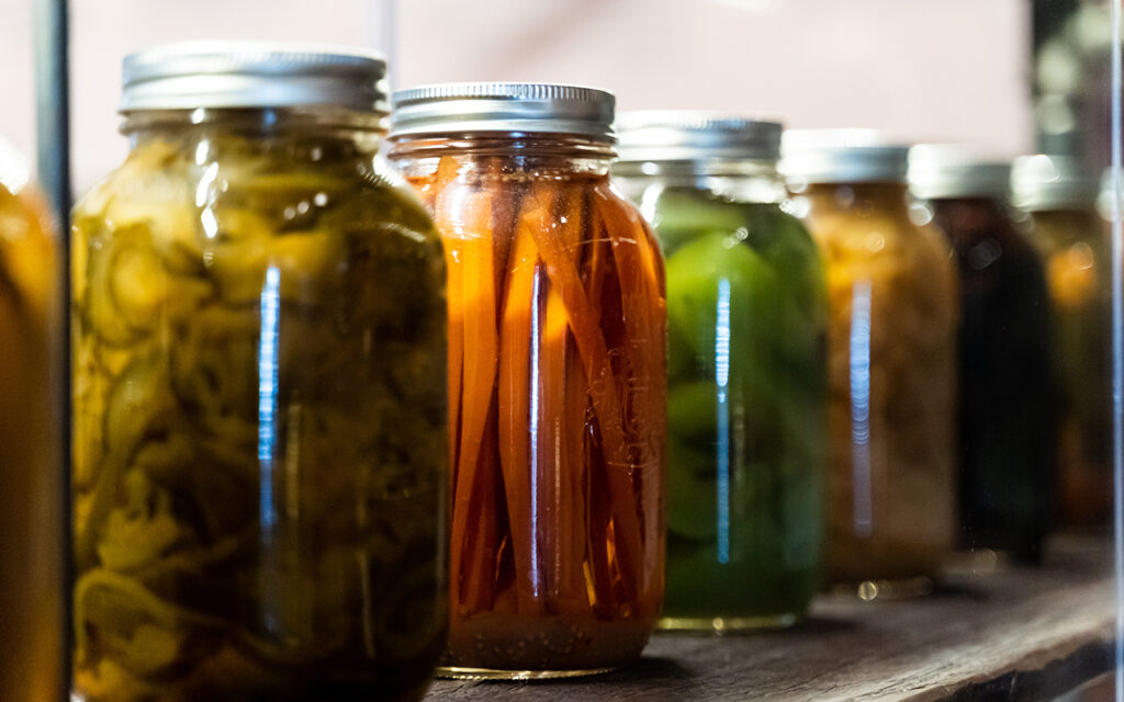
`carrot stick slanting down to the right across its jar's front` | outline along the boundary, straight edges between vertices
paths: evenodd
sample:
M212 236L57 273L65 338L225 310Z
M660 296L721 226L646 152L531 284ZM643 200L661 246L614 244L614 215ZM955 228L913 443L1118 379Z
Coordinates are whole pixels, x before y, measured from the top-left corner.
M541 186L544 185L536 185ZM642 565L640 559L643 555L636 496L629 475L632 465L622 423L622 405L616 391L617 380L609 363L605 337L597 318L593 317L593 310L581 285L574 262L568 257L554 229L540 227L532 229L532 234L551 285L556 288L562 297L566 318L586 365L593 409L597 412L604 443L613 520L614 523L619 523L616 528L619 537L616 550L623 564L622 585L628 596L633 598L637 593L636 575L641 572L638 566Z

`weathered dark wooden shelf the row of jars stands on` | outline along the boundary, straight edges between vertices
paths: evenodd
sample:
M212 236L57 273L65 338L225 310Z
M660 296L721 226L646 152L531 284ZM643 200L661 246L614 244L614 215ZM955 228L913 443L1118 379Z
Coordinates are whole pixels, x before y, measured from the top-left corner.
M787 631L658 635L607 675L438 681L426 700L1050 700L1109 669L1115 608L1105 539L1057 538L1046 553L1039 568L963 568L925 598L825 596Z

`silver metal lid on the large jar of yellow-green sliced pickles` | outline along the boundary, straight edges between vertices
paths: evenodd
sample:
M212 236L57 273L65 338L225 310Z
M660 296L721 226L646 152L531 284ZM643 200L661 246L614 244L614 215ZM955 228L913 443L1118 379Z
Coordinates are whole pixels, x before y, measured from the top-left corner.
M387 62L352 47L184 42L125 57L121 112L338 106L387 112Z

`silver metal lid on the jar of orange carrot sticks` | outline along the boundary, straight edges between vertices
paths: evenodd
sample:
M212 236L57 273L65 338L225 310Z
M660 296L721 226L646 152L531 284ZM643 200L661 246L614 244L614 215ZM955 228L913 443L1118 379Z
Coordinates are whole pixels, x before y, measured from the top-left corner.
M518 131L614 143L613 93L556 83L444 83L396 91L390 138Z

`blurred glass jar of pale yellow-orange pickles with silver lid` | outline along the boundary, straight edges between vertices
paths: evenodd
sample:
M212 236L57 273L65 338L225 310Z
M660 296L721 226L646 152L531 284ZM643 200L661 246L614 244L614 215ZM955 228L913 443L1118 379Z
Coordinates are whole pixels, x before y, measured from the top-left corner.
M827 270L827 577L863 599L924 592L954 538L957 275L909 218L907 155L867 130L785 136Z

